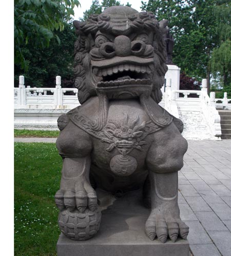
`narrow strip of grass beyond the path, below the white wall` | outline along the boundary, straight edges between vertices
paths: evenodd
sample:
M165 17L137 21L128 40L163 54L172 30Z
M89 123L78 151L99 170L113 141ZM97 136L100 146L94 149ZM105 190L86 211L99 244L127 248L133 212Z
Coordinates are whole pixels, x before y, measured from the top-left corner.
M42 130L17 130L14 129L15 137L37 137L37 138L56 138L60 131L42 131Z

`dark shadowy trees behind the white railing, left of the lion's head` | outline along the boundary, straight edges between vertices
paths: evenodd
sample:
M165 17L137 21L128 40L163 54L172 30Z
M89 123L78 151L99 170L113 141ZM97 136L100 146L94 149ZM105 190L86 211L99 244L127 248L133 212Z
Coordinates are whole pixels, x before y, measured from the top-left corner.
M18 76L22 74L26 84L31 87L54 87L57 75L62 77L63 87L72 87L73 49L76 40L72 21L64 23L64 30L57 31L56 35L60 38L60 43L51 39L49 47L43 50L35 47L32 41L22 46L22 53L27 56L28 69L24 71L15 65L15 87L18 85Z

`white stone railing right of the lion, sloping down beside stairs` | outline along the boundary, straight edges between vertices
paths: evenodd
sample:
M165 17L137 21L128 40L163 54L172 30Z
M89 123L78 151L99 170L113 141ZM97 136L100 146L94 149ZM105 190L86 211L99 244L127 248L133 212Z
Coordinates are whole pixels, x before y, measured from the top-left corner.
M180 97L182 93L184 97ZM189 94L196 94L199 98L189 98ZM201 91L171 90L171 80L166 81L165 109L172 115L179 117L179 108L183 110L200 111L214 136L221 136L220 115L216 109L215 101L207 94L207 80L202 80Z

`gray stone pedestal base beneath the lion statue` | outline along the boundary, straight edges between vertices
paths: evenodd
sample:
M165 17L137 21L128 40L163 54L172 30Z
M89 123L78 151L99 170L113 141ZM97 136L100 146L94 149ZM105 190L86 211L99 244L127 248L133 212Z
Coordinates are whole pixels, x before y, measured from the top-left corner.
M72 241L61 234L57 256L188 256L188 241L165 244L150 241L144 231L149 210L141 204L138 192L128 193L102 211L97 235L87 241Z

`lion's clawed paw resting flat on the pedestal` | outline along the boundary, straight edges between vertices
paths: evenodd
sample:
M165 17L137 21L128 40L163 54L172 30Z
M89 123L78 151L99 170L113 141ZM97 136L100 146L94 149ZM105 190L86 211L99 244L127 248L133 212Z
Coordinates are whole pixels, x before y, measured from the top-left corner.
M167 236L169 236L172 242L176 242L179 235L186 239L188 230L188 226L180 218L163 217L163 215L152 213L145 224L145 232L150 240L154 240L157 236L162 243L166 242Z

